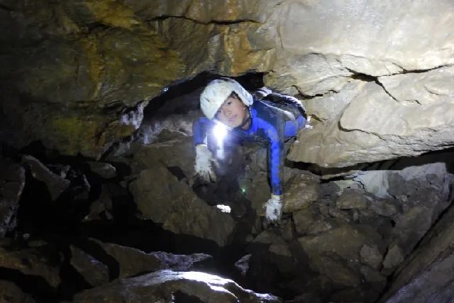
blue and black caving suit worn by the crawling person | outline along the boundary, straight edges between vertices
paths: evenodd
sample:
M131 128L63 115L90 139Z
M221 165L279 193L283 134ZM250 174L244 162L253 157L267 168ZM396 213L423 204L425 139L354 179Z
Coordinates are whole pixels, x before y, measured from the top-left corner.
M303 104L283 94L268 94L263 99L254 97L249 107L250 127L247 130L234 128L232 135L249 141L267 142L270 157L270 181L272 194L282 194L282 166L284 165L284 142L297 136L298 131L306 124L306 110ZM199 118L192 126L194 145L207 143L206 137L214 121Z

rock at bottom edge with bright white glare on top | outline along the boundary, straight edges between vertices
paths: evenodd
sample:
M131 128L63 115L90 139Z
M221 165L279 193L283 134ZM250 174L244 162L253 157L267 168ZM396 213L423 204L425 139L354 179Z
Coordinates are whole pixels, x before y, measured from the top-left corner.
M127 290L127 291L126 291ZM232 280L204 272L160 270L111 282L74 296L74 302L282 302L270 294L245 290Z

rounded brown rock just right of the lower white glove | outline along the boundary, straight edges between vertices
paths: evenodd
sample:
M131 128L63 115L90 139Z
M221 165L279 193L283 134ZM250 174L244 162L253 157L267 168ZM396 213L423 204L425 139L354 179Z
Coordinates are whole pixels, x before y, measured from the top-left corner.
M284 212L293 212L310 206L318 197L319 181L309 174L292 177L285 185Z

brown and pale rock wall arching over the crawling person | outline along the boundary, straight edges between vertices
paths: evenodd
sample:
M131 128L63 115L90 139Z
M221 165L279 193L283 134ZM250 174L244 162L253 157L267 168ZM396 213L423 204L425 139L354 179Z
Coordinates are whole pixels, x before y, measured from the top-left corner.
M264 72L304 99L289 158L345 167L453 146L454 3L1 1L1 140L99 158L162 89ZM11 136L12 135L12 136Z

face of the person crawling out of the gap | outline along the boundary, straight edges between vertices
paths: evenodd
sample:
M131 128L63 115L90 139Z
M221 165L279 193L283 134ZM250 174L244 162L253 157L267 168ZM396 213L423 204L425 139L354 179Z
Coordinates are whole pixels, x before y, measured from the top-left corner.
M226 126L236 128L248 118L248 113L247 106L235 94L231 94L231 97L228 97L219 107L216 119Z

